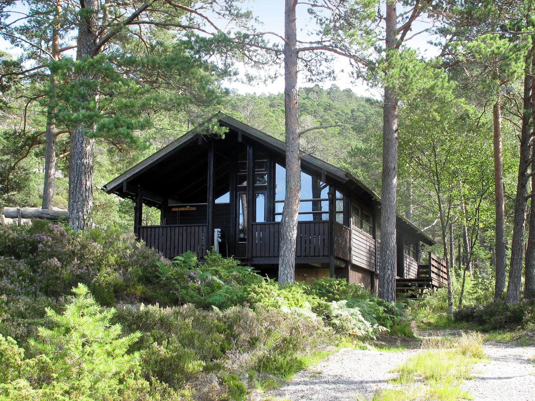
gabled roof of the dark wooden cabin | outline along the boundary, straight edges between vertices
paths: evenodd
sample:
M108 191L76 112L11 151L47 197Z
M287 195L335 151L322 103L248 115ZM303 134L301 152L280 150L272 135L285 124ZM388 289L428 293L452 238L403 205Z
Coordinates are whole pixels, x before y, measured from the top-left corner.
M219 111L215 115L212 115L212 117L208 118L204 124L180 136L177 138L177 140L171 142L167 146L164 146L164 148L160 149L132 168L129 168L117 178L111 180L104 186L104 190L108 192L108 194L117 192L119 188L122 188L127 181L142 174L149 168L154 167L157 163L161 162L162 159L173 155L181 148L184 148L188 144L196 141L197 138L203 133L208 123L213 120L217 120L219 124L234 129L238 131L238 133L241 133L241 135L249 137L251 140L270 148L272 151L278 153L281 157L284 157L286 154L286 144L283 141L247 124L244 124L242 121L236 120L224 112ZM312 155L303 155L301 157L301 163L303 166L307 166L310 169L314 169L316 171L325 171L325 174L330 176L330 178L339 181L346 187L357 190L360 196L368 199L370 202L377 203L380 207L381 198L354 175L351 175L350 173L345 172L342 169ZM405 225L412 230L416 230L422 242L428 245L433 245L435 243L435 241L429 235L425 234L414 223L398 214L398 224L400 223L401 225Z

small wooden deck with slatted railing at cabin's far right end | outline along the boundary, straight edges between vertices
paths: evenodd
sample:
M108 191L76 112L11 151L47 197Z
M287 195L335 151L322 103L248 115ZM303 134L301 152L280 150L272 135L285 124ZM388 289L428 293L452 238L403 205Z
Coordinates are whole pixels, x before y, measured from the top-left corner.
M418 274L416 277L396 279L396 292L398 294L407 292L424 294L426 291L448 285L446 262L432 252L428 253L427 260L427 264L417 265ZM406 266L408 266L407 261ZM413 268L410 266L411 273Z

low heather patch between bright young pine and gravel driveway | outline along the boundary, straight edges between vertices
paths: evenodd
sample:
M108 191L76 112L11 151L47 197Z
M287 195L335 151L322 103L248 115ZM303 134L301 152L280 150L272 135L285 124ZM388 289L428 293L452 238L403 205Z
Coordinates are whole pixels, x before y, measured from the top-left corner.
M243 371L280 358L305 358L325 345L324 335L332 340L332 331L321 320L261 305L255 310L234 306L225 311L193 305L143 306L136 311L125 307L114 321L128 332L141 331L132 349L140 352L144 377L156 377L172 387L196 381L202 374L226 374L225 366ZM280 374L276 366L272 373Z

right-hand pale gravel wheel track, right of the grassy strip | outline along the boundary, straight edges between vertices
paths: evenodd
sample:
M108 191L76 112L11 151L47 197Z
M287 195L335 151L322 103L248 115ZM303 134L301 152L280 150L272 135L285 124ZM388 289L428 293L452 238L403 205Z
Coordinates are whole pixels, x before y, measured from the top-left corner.
M534 347L489 342L484 349L490 363L472 365L475 378L462 384L473 401L528 401L535 398Z

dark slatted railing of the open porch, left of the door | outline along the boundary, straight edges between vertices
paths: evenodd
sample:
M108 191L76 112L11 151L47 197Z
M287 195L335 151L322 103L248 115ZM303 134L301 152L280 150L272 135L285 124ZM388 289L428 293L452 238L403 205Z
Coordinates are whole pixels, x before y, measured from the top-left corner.
M140 226L137 235L149 248L162 253L166 258L174 258L187 251L206 256L207 225Z

